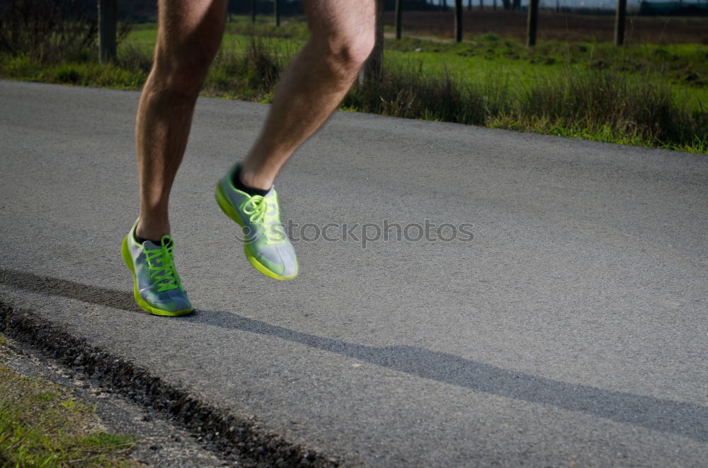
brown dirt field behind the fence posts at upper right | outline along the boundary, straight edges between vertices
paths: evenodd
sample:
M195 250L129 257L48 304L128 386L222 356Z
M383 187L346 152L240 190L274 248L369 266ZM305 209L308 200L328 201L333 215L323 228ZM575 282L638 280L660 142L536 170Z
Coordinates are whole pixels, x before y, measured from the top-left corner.
M394 15L386 12L385 23L393 25ZM404 11L404 35L440 35L452 38L454 13L450 11ZM464 36L494 33L518 40L525 39L526 12L493 11L490 7L480 11L464 11L462 21ZM540 11L538 40L611 41L614 37L615 17L612 14L589 15ZM628 16L627 43L651 42L655 44L702 43L708 45L708 17L658 17Z

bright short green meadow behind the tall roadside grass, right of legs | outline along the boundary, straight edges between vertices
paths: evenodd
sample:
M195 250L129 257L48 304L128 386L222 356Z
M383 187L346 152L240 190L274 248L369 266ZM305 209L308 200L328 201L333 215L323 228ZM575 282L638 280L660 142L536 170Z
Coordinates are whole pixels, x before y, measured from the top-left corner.
M514 40L484 34L459 45L407 38L387 40L386 46L392 66L419 62L421 71L428 74L439 74L445 67L455 70L463 83L472 86L490 74L508 75L515 83L527 86L539 79L562 77L569 69L600 70L669 85L695 110L708 103L706 45L617 48L609 43L549 41L528 48Z

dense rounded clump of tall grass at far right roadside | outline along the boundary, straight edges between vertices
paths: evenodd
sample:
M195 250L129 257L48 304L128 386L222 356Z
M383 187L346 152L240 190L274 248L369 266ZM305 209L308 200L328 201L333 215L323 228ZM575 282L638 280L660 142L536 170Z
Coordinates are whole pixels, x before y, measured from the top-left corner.
M557 79L539 78L519 90L518 105L490 124L568 136L596 134L610 141L685 146L708 141L706 115L693 112L666 83L616 69L567 67Z

